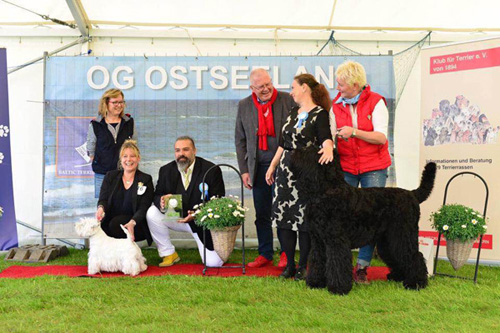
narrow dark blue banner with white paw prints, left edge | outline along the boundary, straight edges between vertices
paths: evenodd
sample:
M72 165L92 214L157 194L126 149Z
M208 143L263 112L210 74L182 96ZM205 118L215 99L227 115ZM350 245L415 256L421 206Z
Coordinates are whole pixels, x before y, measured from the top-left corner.
M17 226L12 190L10 153L9 91L7 89L7 51L0 48L0 250L16 247Z

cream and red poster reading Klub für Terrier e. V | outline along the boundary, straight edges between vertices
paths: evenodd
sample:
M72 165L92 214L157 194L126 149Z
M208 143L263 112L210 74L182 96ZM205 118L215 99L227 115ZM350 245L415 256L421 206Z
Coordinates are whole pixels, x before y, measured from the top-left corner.
M422 49L420 166L437 164L434 190L421 205L420 234L433 237L429 216L446 203L485 209L487 231L481 260L500 261L500 39L454 43ZM484 179L472 175L479 175ZM445 245L446 240L441 242ZM477 257L478 241L470 259ZM440 255L444 256L445 251Z

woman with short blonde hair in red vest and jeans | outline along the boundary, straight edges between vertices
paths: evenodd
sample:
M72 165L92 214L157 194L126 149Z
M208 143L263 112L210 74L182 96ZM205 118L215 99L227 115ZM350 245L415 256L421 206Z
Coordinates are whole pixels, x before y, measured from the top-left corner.
M391 165L387 141L389 111L384 97L371 91L364 67L347 61L336 71L337 90L330 112L332 133L338 140L340 164L351 186L384 187ZM359 251L355 281L368 284L366 268L375 244Z

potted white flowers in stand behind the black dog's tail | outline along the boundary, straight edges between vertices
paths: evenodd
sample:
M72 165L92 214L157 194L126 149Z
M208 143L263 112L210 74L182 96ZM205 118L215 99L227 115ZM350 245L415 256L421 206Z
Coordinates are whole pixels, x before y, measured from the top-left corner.
M432 227L446 238L446 255L455 270L470 256L476 239L486 232L486 221L477 211L458 204L442 206L431 214Z

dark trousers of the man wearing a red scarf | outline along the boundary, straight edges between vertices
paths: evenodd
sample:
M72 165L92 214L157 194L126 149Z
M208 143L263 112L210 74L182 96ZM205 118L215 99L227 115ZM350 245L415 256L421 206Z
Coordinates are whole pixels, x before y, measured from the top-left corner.
M271 211L273 206L273 187L266 183L266 172L269 165L257 165L257 173L253 179L253 204L255 206L255 226L259 242L259 254L268 260L273 259L273 228ZM277 231L281 245L280 230Z

